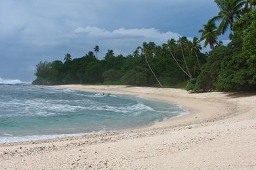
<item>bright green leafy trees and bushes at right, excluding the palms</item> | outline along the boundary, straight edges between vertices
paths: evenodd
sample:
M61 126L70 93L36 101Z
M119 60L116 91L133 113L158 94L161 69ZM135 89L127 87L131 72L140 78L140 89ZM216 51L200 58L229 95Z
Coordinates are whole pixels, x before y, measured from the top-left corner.
M194 90L256 89L256 11L234 22L233 30L228 46L209 53Z

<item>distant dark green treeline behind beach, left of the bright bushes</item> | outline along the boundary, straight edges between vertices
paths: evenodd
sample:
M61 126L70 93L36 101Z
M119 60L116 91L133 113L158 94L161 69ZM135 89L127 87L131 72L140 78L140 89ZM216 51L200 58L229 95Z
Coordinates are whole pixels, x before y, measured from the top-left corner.
M192 43L193 46L188 46L187 44L190 43L192 42L186 37L181 37L178 42L171 39L162 46L157 46L154 42L144 42L128 56L115 56L113 50L108 50L104 59L101 60L96 58L96 52L89 52L75 59L72 59L70 54L66 54L64 62L58 60L51 63L40 62L36 67L37 79L33 84L155 86L159 84L158 81L162 86L182 84L188 80L189 76L198 76L199 64L206 61L205 54L200 52L199 41ZM179 66L188 68L186 71L190 75L184 74Z

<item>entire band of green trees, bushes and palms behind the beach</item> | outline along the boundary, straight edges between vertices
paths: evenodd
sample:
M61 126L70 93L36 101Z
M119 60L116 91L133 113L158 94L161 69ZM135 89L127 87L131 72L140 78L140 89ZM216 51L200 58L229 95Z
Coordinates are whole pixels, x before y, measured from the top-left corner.
M196 92L208 90L256 90L255 0L215 0L220 12L200 29L200 39L180 37L161 46L144 42L128 55L108 50L98 59L99 46L81 58L65 54L64 62L37 65L33 84L129 84L179 86ZM219 27L217 27L219 23ZM218 36L230 29L231 42ZM211 51L200 52L210 46Z

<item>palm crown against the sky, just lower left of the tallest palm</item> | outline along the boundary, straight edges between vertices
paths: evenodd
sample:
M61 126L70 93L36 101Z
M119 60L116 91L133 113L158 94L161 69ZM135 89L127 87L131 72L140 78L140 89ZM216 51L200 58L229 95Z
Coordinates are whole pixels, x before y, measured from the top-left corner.
M212 20L209 20L207 24L203 25L203 29L199 30L199 33L202 33L200 41L204 42L204 48L209 44L211 49L214 49L214 44L218 44L217 36L219 31L217 31L217 26Z

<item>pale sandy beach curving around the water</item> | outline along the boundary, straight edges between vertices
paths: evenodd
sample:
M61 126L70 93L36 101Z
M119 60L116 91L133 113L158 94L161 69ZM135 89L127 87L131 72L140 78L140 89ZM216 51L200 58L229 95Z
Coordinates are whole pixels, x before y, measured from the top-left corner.
M64 85L182 105L190 114L151 127L0 144L0 169L256 169L256 94Z

